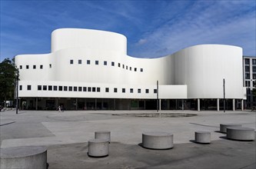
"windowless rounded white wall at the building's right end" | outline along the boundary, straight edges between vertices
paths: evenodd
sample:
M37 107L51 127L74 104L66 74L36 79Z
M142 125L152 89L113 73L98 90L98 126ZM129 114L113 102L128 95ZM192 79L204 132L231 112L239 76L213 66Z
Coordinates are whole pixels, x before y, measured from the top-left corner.
M175 57L175 84L188 85L188 98L243 96L242 48L230 45L196 45Z

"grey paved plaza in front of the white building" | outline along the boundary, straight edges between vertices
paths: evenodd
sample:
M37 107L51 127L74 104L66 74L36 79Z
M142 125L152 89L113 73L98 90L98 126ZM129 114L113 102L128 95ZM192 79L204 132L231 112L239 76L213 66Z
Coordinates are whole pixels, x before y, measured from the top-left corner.
M231 141L219 131L223 123L256 128L255 111L160 111L197 114L179 118L138 118L125 114L156 111L2 111L1 148L45 145L48 168L256 168L255 141ZM124 114L113 115L113 114ZM88 157L95 131L111 131L109 156ZM174 147L141 147L141 134L174 134ZM194 143L194 131L210 131L211 144Z

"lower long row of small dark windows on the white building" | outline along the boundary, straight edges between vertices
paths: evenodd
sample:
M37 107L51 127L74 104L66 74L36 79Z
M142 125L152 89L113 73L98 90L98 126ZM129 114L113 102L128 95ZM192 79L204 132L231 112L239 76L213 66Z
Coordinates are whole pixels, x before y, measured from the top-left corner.
M22 91L22 85L19 85L19 90ZM27 85L27 90L31 91L32 86ZM77 87L77 86L52 86L52 85L38 85L38 91L88 91L88 92L101 92L101 88L96 87ZM125 88L121 89L122 93L125 93ZM105 88L105 92L109 92L109 88ZM114 88L114 92L118 92L118 88ZM138 88L138 93L141 93L141 88ZM130 88L130 93L134 93L134 89ZM149 93L149 89L145 89L145 93ZM157 93L157 89L154 89L154 93Z

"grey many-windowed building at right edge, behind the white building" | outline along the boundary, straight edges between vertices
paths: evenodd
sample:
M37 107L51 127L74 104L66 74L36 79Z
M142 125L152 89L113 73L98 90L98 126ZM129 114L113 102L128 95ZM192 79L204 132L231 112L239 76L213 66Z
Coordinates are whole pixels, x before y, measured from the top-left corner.
M244 86L247 99L244 100L244 108L256 106L256 97L252 91L256 90L256 57L244 56Z

